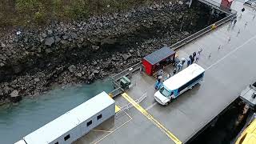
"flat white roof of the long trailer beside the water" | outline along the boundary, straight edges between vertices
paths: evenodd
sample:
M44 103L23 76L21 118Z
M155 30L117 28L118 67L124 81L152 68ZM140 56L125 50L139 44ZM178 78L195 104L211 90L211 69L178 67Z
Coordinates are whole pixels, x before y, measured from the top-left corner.
M52 142L113 103L114 100L106 92L102 92L38 130L26 135L23 139L27 144L46 144Z

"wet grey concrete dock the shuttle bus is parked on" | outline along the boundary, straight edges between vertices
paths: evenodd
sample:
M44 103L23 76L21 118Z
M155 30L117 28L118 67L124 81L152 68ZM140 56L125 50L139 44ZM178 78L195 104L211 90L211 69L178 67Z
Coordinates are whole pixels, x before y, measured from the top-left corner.
M206 73L200 85L168 106L160 106L154 101L156 79L144 73L135 74L132 81L136 85L126 94L133 100L146 95L140 107L118 114L74 143L170 144L178 143L170 138L170 133L182 143L194 137L256 79L255 12L245 6L246 11L239 18L242 6L241 2L233 2L232 8L238 11L235 26L226 23L178 49L179 58L188 58L202 48L198 65L206 69ZM171 73L171 67L165 71ZM124 96L115 100L121 107L130 103Z

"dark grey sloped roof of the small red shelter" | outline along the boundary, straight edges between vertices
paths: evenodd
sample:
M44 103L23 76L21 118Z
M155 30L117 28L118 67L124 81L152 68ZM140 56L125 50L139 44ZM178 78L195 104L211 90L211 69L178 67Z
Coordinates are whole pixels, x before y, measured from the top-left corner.
M154 65L173 54L175 54L174 50L171 50L170 47L164 46L161 49L154 51L154 53L147 55L143 59L150 62L151 65Z

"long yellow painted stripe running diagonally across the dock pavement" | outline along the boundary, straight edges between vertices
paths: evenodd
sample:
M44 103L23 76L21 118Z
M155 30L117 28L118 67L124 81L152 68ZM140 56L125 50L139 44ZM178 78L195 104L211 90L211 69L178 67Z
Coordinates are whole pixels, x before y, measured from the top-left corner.
M143 115L146 116L151 122L154 123L155 126L158 126L162 132L164 132L172 141L174 141L177 144L181 144L182 142L174 136L169 130L166 129L165 126L162 126L160 122L158 122L151 114L149 114L145 109L142 108L142 106L139 106L137 102L134 101L133 98L130 98L130 96L126 93L122 94L123 98L126 98L128 102L130 102L138 111L140 111Z

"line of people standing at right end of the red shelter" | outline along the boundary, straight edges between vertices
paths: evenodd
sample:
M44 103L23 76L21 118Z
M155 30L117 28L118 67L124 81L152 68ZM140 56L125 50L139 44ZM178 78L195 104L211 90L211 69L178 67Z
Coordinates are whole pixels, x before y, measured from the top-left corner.
M186 58L181 58L181 61L178 62L178 64L174 68L173 74L176 74L177 71L182 70L185 62L186 62L186 66L190 66L194 62L197 63L201 53L202 53L202 48L200 48L198 50L198 54L196 52L194 52L193 54L190 54L190 57L187 58L187 59Z

